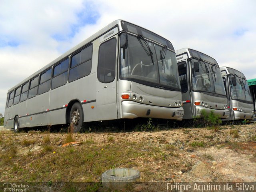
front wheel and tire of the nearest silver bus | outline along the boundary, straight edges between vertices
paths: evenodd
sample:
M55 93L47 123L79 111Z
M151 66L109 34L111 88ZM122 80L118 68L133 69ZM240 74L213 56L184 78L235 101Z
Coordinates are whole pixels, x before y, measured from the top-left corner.
M81 105L76 102L72 105L72 108L70 110L70 124L74 125L73 132L79 132L83 126L84 122L84 114Z

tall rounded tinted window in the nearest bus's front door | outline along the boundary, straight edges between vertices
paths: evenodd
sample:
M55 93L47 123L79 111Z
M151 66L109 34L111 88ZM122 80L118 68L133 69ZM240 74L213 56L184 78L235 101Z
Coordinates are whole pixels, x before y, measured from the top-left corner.
M116 38L100 45L98 61L98 80L103 83L112 82L116 71Z

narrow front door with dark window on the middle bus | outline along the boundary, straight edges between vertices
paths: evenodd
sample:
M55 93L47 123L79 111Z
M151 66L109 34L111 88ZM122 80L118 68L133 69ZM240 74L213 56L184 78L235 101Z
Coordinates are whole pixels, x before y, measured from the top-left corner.
M183 119L192 118L191 95L189 85L188 63L186 61L178 62L178 72L182 92L182 103L184 109Z

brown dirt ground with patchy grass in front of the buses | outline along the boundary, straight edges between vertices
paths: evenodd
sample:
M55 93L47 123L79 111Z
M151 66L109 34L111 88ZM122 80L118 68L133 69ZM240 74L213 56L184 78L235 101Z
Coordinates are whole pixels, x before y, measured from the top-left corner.
M64 144L66 133L48 134L52 148L48 154L44 153L44 156L40 156L40 153L47 133L33 131L14 134L8 131L0 134L0 153L2 153L0 182L66 179L60 177L56 180L54 171L48 174L49 178L40 179L38 176L40 174L35 169L30 169L38 158L43 161L44 158L45 160L50 158L54 152L56 154L65 152L68 148L61 146ZM120 150L130 150L124 156L120 156L118 166L139 170L140 182L256 181L256 124L226 125L217 128L173 128L155 132L88 132L73 134L73 137L75 141L83 142L80 146L72 146L73 151L76 152L86 153L87 149L94 146L102 148L101 150L106 146L112 147L111 150L116 153ZM33 142L24 144L24 140ZM10 144L16 148L13 164L4 162L6 158L4 154L8 152ZM25 162L24 156L26 156ZM23 162L20 162L21 159ZM91 163L94 166L93 162ZM103 166L99 158L97 165L101 163L102 168L98 172L92 172L89 181L99 182L101 171L111 167L111 162L104 162ZM22 174L14 170L13 165L19 166ZM59 171L58 169L60 168L57 167L55 173ZM71 165L64 169L72 174ZM25 170L30 174L33 172L36 174L34 180L24 177ZM84 176L72 176L71 180L88 181Z

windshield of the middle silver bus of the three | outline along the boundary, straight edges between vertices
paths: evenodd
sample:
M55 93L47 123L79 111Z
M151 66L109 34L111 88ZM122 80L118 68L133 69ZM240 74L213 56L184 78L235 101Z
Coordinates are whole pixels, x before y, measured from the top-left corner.
M192 89L226 95L220 68L197 58L191 60Z

